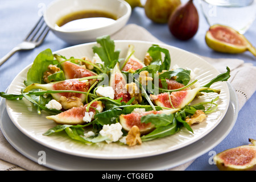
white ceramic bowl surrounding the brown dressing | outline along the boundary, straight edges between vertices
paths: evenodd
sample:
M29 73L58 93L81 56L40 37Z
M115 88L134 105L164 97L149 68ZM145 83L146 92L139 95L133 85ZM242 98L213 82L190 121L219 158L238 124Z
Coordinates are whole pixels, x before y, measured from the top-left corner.
M114 23L104 27L80 31L64 31L56 28L61 17L81 10L101 10L117 15ZM131 7L124 0L57 0L52 2L44 12L44 20L52 32L70 44L94 42L102 35L112 35L121 29L131 15Z

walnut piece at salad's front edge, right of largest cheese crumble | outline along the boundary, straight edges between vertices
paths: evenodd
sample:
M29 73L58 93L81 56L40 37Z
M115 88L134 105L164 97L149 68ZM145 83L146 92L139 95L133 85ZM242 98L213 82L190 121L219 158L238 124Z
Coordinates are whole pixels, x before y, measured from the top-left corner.
M139 131L138 126L131 127L131 130L126 136L126 143L129 145L129 147L142 144L141 132Z

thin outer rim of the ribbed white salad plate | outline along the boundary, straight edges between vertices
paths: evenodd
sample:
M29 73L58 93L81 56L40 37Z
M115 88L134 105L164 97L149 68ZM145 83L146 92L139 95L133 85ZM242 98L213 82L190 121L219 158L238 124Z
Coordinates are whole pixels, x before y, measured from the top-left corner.
M212 67L212 65L210 65L210 64L209 64L207 61L205 61L203 58L197 56L197 55L194 54L194 53L185 51L184 49L180 49L180 48L177 48L177 47L174 47L174 46L169 46L169 45L163 44L163 43L147 42L147 41L143 41L143 40L114 40L114 42L119 42L119 43L132 43L132 42L133 42L133 43L158 44L159 46L163 46L163 47L171 47L172 49L176 49L176 50L181 51L181 52L184 51L184 52L187 52L187 53L189 53L189 54L192 54L192 55L195 56L197 59L200 59L200 61L204 61L205 64L208 64L212 69L214 69L214 71L220 73L216 68ZM89 46L92 46L92 45L94 45L94 44L98 45L97 42L84 43L84 44L79 44L79 45L75 45L75 46L71 46L71 47L59 49L59 50L57 50L57 51L54 51L53 54L54 54L54 53L61 52L61 51L66 51L66 50L68 50L68 49L76 49L77 47L83 47L83 46L88 46L88 45L89 45ZM115 45L115 49L117 49L117 46L116 46L116 45ZM28 65L26 68L24 68L22 71L20 71L20 73L21 73L21 72L24 72L24 70L30 68L32 64L33 64L33 63L31 63L30 65ZM20 74L20 73L19 73L19 74ZM16 77L18 77L19 74L18 74ZM16 79L16 77L14 78L14 80ZM10 85L13 84L14 80L11 82ZM228 88L227 83L226 83L226 82L223 82L223 83L224 83L224 84L226 85L226 87ZM230 94L229 94L229 92L227 92L227 93L228 93L228 101L230 101ZM7 102L8 102L8 101L7 101ZM6 108L9 107L9 106L7 105L7 102L6 102ZM220 121L218 121L218 124L219 124L219 123L221 122L221 120L224 118L226 112L228 111L228 107L229 107L229 103L228 103L228 105L227 105L227 107L226 107L226 109L225 109L225 113L223 114L223 116L221 117L221 119L219 119ZM7 110L7 113L9 114L9 117L11 118L11 121L13 121L13 118L12 118L11 114L9 113L9 109L6 109L6 110ZM159 151L158 151L158 152L153 152L153 153L150 153L150 154L147 154L147 155L140 154L140 155L132 155L132 156L130 156L130 155L129 155L129 156L102 156L102 155L88 155L88 154L73 153L73 152L70 152L70 151L63 151L63 150L61 150L61 149L59 149L59 148L57 148L57 147L55 147L55 146L49 146L49 144L44 143L44 142L42 142L41 140L36 139L36 138L32 137L31 135L27 134L27 132L26 132L22 127L20 127L20 126L18 125L18 123L14 122L14 121L13 121L13 123L14 123L14 125L15 125L16 127L18 127L18 129L19 129L20 131L22 131L23 134L27 135L27 137L31 138L32 140L35 140L36 142L38 142L38 143L40 143L40 144L43 144L43 145L46 146L46 147L52 148L53 150L57 150L57 151L59 151L59 152L64 152L64 153L66 153L66 154L76 155L76 156L82 156L82 157L85 157L85 158L94 158L94 159L133 159L133 158L148 157L148 156L152 156L152 155L160 155L160 154L164 154L164 153L166 153L166 152L170 152L170 149L167 148L166 150L162 150L162 151L160 151L160 152L159 152ZM217 125L218 125L218 124L217 124ZM204 133L204 135L200 135L200 137L197 137L196 139L192 140L192 142L189 143L189 144L192 144L192 143L196 142L197 140L199 140L199 139L205 137L205 135L207 135L208 133L210 133L210 131L212 131L217 125L215 125L211 130L209 130L209 131L207 131L206 133ZM179 147L176 147L175 149L173 149L173 150L171 150L171 151L178 150L179 148L185 147L185 146L187 146L187 145L189 145L189 144L181 144Z

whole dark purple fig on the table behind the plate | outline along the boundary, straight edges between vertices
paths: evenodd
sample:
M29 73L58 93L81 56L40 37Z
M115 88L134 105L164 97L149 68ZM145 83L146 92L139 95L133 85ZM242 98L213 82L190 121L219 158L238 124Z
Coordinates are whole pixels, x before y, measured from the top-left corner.
M172 35L180 40L191 39L199 28L199 15L193 0L177 7L168 20L168 27Z

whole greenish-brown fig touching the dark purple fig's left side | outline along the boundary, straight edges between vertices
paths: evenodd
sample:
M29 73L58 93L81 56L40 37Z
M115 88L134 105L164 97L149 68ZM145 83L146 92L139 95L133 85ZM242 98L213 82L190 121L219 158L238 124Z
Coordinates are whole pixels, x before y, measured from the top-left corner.
M153 22L164 24L168 23L169 17L180 5L180 0L147 0L144 11Z

